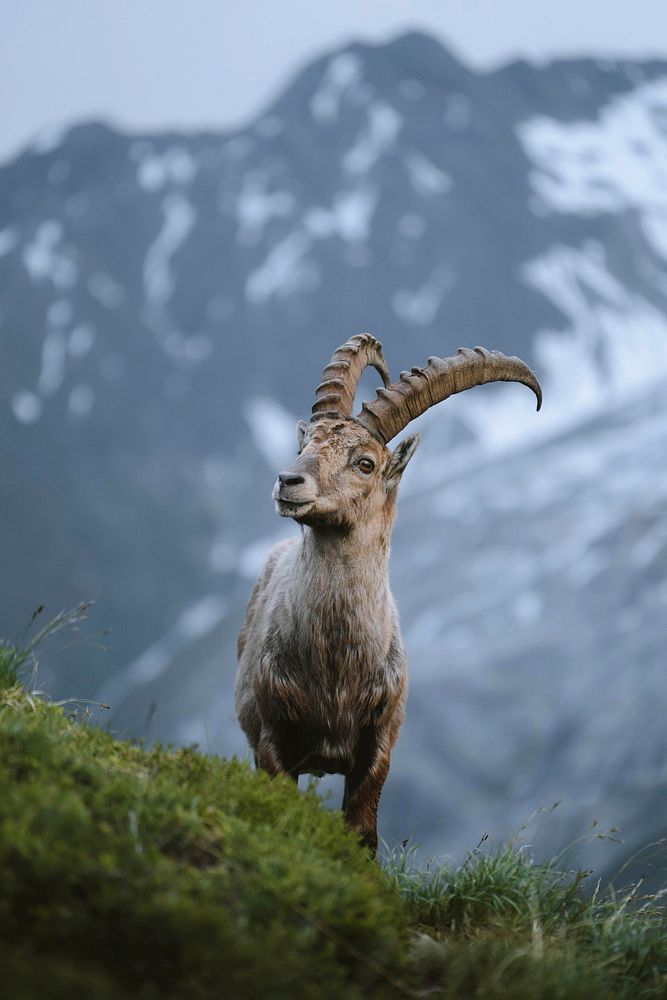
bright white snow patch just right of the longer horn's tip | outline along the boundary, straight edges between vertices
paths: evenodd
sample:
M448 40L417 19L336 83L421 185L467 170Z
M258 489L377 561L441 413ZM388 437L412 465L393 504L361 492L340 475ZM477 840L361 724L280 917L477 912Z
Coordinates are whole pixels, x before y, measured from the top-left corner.
M466 394L461 401L459 416L487 452L553 436L667 376L667 318L609 272L599 244L555 246L526 264L523 278L567 325L540 330L534 341L545 400L539 419L521 386Z

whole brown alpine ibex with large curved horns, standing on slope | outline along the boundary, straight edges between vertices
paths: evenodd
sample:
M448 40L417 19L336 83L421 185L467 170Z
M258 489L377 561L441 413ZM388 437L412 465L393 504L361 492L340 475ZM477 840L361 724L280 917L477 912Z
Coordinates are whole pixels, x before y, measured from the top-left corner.
M359 377L385 388L352 416ZM276 510L303 526L276 545L250 596L238 641L236 707L269 774L344 774L343 811L372 852L377 808L403 720L407 660L389 589L389 538L400 478L419 436L387 442L453 393L484 382L542 393L518 358L482 347L429 358L389 384L370 334L339 347L317 387L299 453L273 489Z

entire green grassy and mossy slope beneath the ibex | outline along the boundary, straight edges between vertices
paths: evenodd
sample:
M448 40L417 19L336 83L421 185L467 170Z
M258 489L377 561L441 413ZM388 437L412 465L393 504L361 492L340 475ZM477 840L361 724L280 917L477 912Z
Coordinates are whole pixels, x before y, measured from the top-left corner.
M30 693L30 653L0 646L13 1000L667 997L664 918L641 888L586 893L516 845L383 869L312 793L115 741L84 706Z

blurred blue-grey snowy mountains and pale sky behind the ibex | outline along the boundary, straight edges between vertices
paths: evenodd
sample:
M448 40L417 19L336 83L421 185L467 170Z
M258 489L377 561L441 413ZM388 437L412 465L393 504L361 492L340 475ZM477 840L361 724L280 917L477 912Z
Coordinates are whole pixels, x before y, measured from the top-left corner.
M245 755L236 635L323 365L365 330L394 378L481 343L545 403L417 422L381 834L460 858L559 801L539 850L619 826L609 874L660 838L664 3L16 0L0 29L0 635L96 604L40 685Z

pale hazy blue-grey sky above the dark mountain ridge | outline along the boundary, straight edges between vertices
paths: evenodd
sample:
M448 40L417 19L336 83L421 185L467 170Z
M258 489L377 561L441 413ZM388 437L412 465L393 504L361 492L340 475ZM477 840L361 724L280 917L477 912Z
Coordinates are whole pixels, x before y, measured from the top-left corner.
M221 128L352 38L420 28L472 65L667 57L667 0L3 0L0 159L44 127Z

